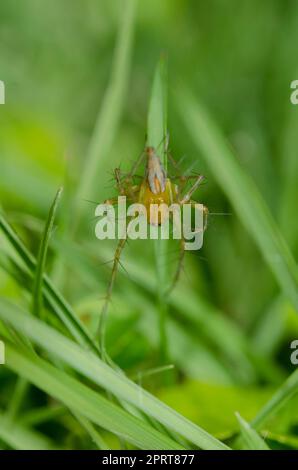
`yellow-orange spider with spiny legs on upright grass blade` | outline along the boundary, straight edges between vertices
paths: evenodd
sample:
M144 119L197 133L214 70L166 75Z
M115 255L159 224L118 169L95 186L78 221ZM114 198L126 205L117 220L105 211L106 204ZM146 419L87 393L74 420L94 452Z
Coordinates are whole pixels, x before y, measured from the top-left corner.
M143 177L141 177L139 175L136 175L136 171L144 159L146 159L145 174ZM175 160L170 155L169 159L177 171L178 166ZM192 200L191 197L203 180L202 175L176 175L170 177L169 175L167 175L165 168L163 167L161 160L157 154L157 151L153 147L149 146L145 148L145 151L140 155L140 157L135 162L131 171L128 174L122 174L120 169L116 168L114 170L114 178L118 195L125 196L129 203L138 203L144 206L146 208L147 223L159 226L163 225L165 223L166 218L170 216L169 213L165 214L163 210L159 210L159 207L161 207L162 205L166 205L167 207L169 207L172 204L178 204L180 207L183 207L185 204L188 204L192 207L195 207L198 202ZM137 178L141 180L140 184L135 183L135 180ZM191 186L189 188L188 183L191 183ZM118 203L118 197L107 199L104 203L108 205L116 205ZM204 231L207 227L208 209L203 205L201 206L203 207ZM152 207L155 208L153 211L151 210ZM104 328L108 304L111 299L117 269L120 264L121 252L125 246L126 241L126 237L123 237L118 241L113 260L112 274L101 311L98 335L100 337L103 355L105 354ZM183 264L185 243L186 241L182 236L180 239L180 254L177 270L173 277L172 284L168 289L168 293L173 289L176 282L178 281Z

